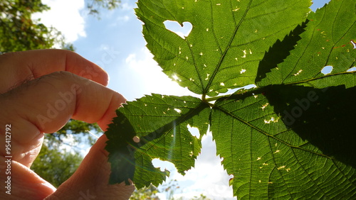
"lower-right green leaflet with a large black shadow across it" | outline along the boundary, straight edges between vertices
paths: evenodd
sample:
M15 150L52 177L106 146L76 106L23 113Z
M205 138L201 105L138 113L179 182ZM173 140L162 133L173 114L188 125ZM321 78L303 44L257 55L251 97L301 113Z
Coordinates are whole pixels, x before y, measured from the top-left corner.
M216 101L211 131L224 167L234 174L234 195L355 197L356 135L350 125L356 109L344 99L355 102L356 87L270 86Z

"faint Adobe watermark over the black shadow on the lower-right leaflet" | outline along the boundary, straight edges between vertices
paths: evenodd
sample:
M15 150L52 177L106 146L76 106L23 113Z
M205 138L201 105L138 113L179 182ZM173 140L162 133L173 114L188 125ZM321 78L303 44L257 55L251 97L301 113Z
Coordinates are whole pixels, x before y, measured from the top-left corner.
M327 90L328 90L328 87L322 89L321 91L325 92ZM285 115L283 117L284 124L286 124L286 126L293 125L293 123L295 123L297 118L300 118L300 116L302 116L305 111L310 109L310 105L313 102L318 101L318 99L319 99L319 96L318 96L318 94L316 94L316 92L314 90L308 91L308 94L303 99L298 99L298 98L295 99L294 101L297 105L295 105L290 110L290 112L288 112L286 110L283 111L283 114Z

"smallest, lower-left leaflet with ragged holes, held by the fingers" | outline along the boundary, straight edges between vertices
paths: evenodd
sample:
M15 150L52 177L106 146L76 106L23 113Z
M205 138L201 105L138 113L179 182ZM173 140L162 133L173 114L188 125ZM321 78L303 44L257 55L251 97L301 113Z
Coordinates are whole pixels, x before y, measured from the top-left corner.
M112 165L110 182L132 179L139 188L148 187L151 182L162 183L168 172L152 165L155 158L172 162L184 174L194 166L200 152L209 113L209 105L195 97L159 94L142 97L118 109L117 118L105 133ZM189 132L188 125L199 128L199 138Z

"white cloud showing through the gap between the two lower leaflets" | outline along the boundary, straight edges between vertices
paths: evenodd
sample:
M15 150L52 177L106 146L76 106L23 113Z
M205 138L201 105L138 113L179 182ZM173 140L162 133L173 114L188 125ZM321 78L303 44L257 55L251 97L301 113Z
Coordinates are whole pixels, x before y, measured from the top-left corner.
M231 178L221 165L220 157L216 156L216 145L212 141L211 133L203 137L203 148L197 157L195 167L188 170L184 176L179 174L170 162L154 160L155 167L167 169L171 179L177 179L179 189L174 191L177 199L192 199L194 196L204 194L209 199L236 199L233 197L232 187L229 186ZM162 197L162 195L160 196Z

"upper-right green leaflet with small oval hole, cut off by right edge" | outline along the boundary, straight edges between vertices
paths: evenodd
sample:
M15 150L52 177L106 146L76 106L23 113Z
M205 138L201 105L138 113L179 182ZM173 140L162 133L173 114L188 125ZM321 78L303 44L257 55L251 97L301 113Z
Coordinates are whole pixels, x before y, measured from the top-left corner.
M345 84L356 85L356 49L351 41L356 40L355 1L330 1L308 16L305 32L300 34L295 50L278 67L258 82L259 87L268 84L300 84L317 88ZM271 55L273 57L273 55ZM325 66L333 66L330 74L323 74Z

